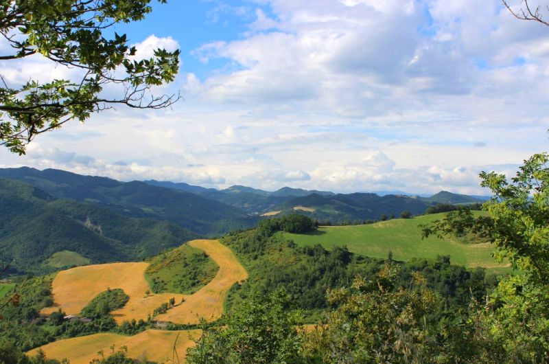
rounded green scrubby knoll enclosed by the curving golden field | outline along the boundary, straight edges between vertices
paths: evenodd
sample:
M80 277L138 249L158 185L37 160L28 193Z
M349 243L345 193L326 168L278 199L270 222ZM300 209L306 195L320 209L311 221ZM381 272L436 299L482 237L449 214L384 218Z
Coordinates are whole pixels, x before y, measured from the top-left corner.
M152 258L145 278L154 293L189 295L208 284L218 269L204 251L183 244Z

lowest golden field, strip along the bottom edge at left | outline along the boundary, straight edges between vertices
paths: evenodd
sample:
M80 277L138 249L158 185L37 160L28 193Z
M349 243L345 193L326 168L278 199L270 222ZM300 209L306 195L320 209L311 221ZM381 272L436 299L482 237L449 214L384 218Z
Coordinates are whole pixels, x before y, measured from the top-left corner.
M92 359L98 357L97 352L104 351L105 356L110 354L110 346L115 345L115 350L126 345L128 356L132 359L147 359L158 363L166 363L172 359L174 342L177 334L176 350L179 359L184 360L187 348L194 345L192 339L198 339L201 330L146 330L132 337L119 334L93 334L86 337L74 337L49 343L41 347L50 359L69 359L71 364L89 364ZM36 355L38 348L28 352Z

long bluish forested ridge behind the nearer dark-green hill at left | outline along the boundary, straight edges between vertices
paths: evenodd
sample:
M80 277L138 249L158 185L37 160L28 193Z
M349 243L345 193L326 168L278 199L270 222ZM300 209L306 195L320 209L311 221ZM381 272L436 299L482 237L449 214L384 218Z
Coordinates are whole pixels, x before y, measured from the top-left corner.
M58 198L96 203L125 216L168 220L201 235L222 234L257 223L257 218L237 207L139 181L124 183L106 177L26 167L0 169L0 178L30 183Z

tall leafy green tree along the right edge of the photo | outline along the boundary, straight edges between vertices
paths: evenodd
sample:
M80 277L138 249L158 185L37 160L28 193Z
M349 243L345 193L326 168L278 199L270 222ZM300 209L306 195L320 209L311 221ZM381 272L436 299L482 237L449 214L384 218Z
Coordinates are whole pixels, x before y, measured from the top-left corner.
M425 228L425 234L483 231L517 275L504 277L478 312L479 337L503 363L544 363L549 357L549 168L547 153L524 161L508 181L503 174L482 172L481 185L494 194L484 204L489 217L463 212Z

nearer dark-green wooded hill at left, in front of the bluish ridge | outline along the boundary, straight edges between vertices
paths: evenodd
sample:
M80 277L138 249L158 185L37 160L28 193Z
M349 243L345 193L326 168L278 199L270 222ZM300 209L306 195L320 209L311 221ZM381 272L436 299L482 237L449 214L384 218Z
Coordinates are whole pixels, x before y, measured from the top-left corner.
M12 271L43 273L77 262L141 260L196 237L167 221L128 218L0 179L0 255L12 260Z

